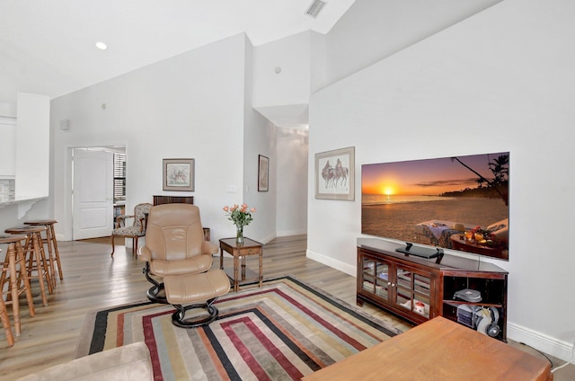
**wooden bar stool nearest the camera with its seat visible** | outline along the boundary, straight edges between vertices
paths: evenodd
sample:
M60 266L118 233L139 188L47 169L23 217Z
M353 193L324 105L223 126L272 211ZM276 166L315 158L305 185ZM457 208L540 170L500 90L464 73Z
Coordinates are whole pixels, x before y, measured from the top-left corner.
M22 250L22 241L27 239L26 235L0 235L0 244L8 244L8 250L4 262L0 262L0 293L4 301L4 284L9 283L10 287L7 293L11 296L9 300L4 302L12 305L13 318L14 318L14 331L16 336L20 336L21 323L20 323L20 295L22 292L26 293L26 301L30 309L30 315L36 315L34 310L34 299L32 298L30 278L28 276L28 269L26 268L26 258Z

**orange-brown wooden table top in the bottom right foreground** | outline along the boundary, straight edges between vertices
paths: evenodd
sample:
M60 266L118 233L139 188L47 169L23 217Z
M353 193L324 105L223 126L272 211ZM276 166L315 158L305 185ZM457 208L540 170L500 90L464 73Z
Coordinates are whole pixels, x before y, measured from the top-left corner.
M549 361L438 316L302 378L553 380Z

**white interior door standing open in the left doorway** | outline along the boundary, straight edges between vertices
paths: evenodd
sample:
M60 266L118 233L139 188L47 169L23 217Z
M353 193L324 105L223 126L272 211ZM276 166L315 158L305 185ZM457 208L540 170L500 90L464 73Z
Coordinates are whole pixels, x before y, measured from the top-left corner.
M102 237L113 228L113 154L74 150L72 239Z

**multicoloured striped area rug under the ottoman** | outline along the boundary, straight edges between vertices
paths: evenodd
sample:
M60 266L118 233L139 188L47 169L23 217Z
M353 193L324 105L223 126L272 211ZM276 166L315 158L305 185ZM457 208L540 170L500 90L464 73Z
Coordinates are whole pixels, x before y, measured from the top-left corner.
M76 357L146 341L156 380L299 380L399 330L293 278L220 297L217 321L173 326L172 306L141 302L86 317Z

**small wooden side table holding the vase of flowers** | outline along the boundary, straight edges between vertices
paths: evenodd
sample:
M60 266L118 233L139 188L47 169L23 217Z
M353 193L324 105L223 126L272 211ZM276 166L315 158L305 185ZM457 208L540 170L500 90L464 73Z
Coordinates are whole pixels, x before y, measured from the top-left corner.
M230 253L234 256L234 269L224 269L224 252ZM245 261L246 257L250 255L258 255L260 258L260 273L256 277L246 278L246 268ZM263 280L262 275L262 257L263 257L263 245L257 241L253 241L250 238L244 237L243 244L236 244L235 238L222 238L219 240L219 268L226 271L227 276L234 282L234 292L238 291L240 287L240 282L246 280L258 279L260 282L259 287L261 287L261 282ZM240 278L240 259L242 260L242 274ZM247 270L249 271L249 270ZM255 275L255 274L254 274ZM251 276L248 272L248 276Z

